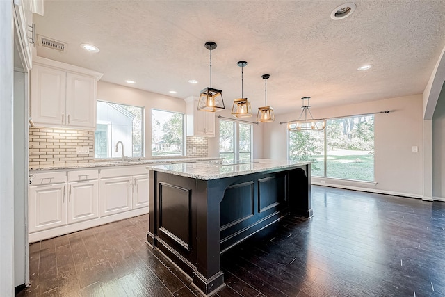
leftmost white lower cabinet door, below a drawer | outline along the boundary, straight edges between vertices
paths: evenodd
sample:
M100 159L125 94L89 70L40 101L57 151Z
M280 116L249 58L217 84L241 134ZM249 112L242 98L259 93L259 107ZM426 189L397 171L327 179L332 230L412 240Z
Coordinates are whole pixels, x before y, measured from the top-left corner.
M29 232L67 223L65 184L29 187Z

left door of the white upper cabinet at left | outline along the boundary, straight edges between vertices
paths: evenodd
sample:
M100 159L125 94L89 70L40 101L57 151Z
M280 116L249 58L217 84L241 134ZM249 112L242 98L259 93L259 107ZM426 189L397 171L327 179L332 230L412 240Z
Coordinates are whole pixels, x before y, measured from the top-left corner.
M65 71L33 66L31 117L36 124L65 125Z

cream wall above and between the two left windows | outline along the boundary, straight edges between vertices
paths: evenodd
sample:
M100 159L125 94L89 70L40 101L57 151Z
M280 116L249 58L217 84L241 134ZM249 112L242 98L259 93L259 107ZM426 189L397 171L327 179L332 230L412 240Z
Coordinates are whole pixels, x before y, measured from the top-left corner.
M152 158L152 109L186 113L186 102L183 99L119 86L104 81L97 82L97 99L145 107L145 158L147 159ZM112 148L114 149L114 147Z

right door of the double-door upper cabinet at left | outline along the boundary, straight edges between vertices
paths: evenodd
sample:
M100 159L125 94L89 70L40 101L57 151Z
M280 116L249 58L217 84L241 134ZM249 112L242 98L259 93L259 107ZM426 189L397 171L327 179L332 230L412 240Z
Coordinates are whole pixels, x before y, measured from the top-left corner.
M76 127L95 128L95 78L67 72L66 79L66 124Z

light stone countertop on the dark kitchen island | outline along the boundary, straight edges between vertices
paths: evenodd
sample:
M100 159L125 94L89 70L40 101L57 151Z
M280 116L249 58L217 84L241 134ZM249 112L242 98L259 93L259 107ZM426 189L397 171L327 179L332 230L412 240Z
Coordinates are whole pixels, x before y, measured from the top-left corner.
M191 177L193 179L220 179L224 177L234 177L237 175L248 175L250 173L264 172L285 168L296 168L311 164L312 161L286 161L270 159L254 159L251 163L224 164L218 161L200 161L197 163L179 163L165 165L151 165L147 169Z

